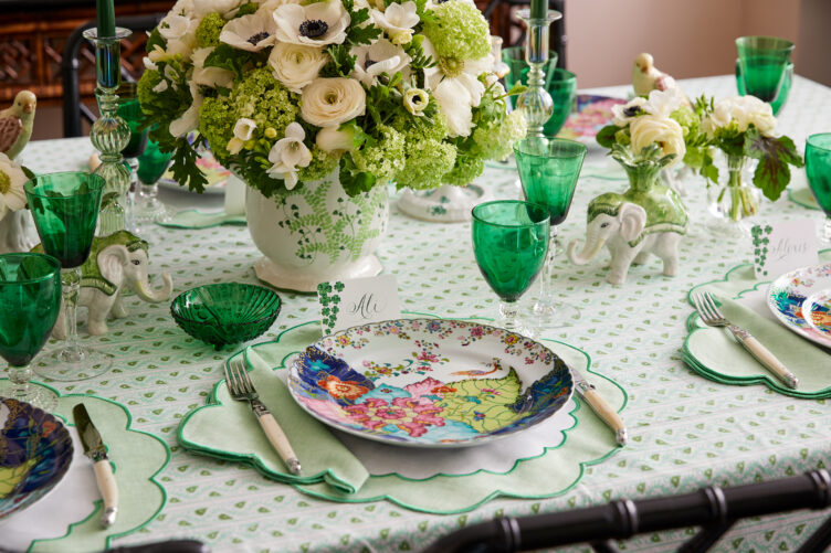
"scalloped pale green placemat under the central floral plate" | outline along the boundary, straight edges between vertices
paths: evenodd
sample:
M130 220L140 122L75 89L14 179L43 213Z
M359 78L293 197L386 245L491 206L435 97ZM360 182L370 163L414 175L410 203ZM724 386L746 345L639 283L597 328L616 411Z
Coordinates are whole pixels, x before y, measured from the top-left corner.
M270 360L271 366L281 370L286 368L288 358L303 351L319 337L318 323L311 321L284 331L273 342L255 344L251 348L261 358ZM553 340L546 340L546 342L567 363L580 370L586 379L597 386L598 392L612 408L618 411L623 408L627 402L625 391L611 380L592 372L588 354L561 342ZM256 375L256 369L251 371L252 380L263 377L263 375ZM267 391L257 389L261 400L273 410L296 450L315 447L308 444L311 436L308 426L306 426L306 434L298 433L293 419L290 421L291 415L286 416L285 413L281 413L285 410L299 410L299 407L291 398L287 390L280 394L284 398L278 401L274 389L280 387L285 389L280 385L270 386ZM475 509L497 497L539 499L564 493L580 480L587 465L600 462L612 455L618 449L613 433L590 407L580 403L579 397L575 400L577 406L570 413L575 418L575 425L565 432L564 442L557 447L548 448L544 455L517 462L505 474L478 470L461 476L436 475L424 480L412 480L399 475L369 475L354 492L348 492L345 486L333 486L330 480L329 483L322 481L324 475L319 474L317 466L308 471L316 482L309 482L308 476L298 478L286 474L267 442L260 437L262 432L249 413L249 406L242 402L230 401L224 382L218 383L206 406L190 412L185 417L179 427L179 443L194 453L253 465L266 477L291 482L299 491L322 499L340 502L387 499L417 511L457 513ZM241 425L238 433L228 435L224 432L208 430L211 424L239 419L242 416L241 413L245 416L245 423ZM303 416L307 419L312 418L305 413ZM316 421L314 423L319 425ZM328 436L323 439L336 440L323 425L319 426ZM193 432L194 428L201 430ZM338 446L343 447L339 442L335 447ZM308 454L304 458L303 453L297 450L297 455L304 464L305 472ZM314 462L314 458L312 460ZM355 467L351 469L355 470ZM353 482L357 483L357 480Z

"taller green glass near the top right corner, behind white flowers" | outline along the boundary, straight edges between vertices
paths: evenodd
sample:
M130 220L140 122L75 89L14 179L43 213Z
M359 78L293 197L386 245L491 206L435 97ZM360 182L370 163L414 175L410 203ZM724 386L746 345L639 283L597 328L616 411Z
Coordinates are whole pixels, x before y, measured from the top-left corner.
M793 43L776 36L739 36L738 61L747 94L772 103L779 96Z

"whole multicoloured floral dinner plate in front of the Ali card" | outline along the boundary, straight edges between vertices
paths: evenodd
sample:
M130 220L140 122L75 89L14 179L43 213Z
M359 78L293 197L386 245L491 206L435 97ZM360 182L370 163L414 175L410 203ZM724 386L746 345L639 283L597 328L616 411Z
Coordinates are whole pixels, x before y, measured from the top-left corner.
M571 396L566 363L504 329L398 319L324 337L291 366L288 389L340 430L416 447L478 445L528 428Z

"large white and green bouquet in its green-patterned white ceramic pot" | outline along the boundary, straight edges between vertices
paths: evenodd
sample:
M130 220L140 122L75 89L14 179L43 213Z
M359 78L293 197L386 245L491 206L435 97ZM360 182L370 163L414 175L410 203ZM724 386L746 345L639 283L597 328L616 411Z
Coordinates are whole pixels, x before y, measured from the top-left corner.
M387 183L466 184L524 130L470 0L179 0L147 47L150 137L192 190L202 143L248 183L282 287L379 272Z

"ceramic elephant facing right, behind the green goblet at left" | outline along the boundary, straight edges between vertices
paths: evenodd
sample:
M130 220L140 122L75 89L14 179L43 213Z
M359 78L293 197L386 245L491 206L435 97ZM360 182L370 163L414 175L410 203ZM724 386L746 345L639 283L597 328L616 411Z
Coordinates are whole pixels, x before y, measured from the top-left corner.
M88 309L86 328L91 334L105 334L108 318L127 316L120 297L126 286L139 298L154 304L170 297L173 281L167 273L161 274L162 287L150 289L147 249L147 242L127 231L94 238L90 257L81 267L78 293L78 307ZM53 336L63 338L65 333L63 317L59 317Z

